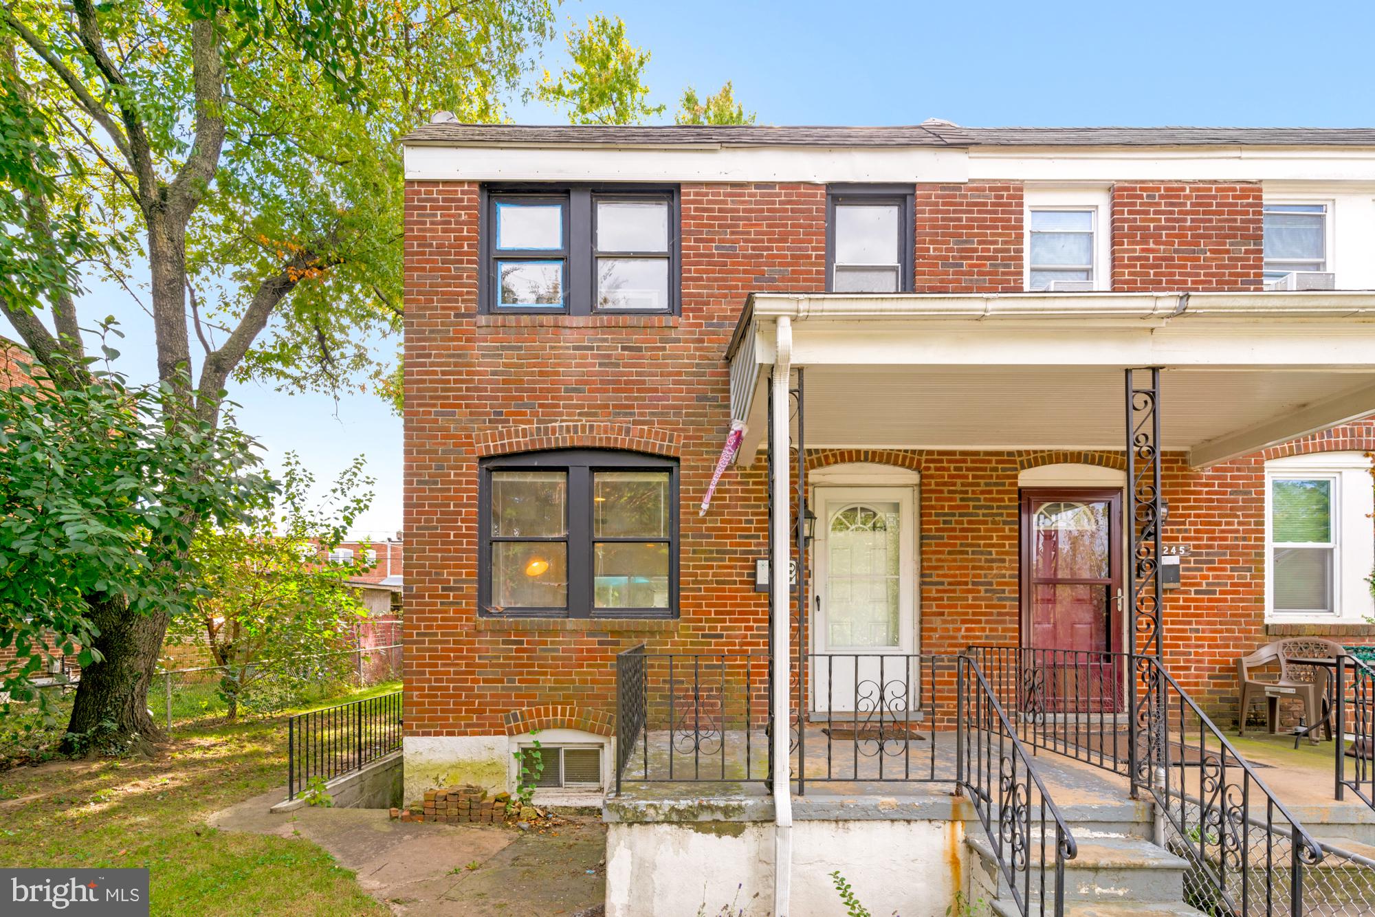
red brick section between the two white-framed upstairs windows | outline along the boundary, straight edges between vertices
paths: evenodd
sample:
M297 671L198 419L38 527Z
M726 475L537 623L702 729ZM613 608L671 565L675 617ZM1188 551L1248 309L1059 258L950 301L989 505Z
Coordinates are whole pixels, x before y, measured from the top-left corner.
M1261 186L1112 186L1112 289L1255 290Z

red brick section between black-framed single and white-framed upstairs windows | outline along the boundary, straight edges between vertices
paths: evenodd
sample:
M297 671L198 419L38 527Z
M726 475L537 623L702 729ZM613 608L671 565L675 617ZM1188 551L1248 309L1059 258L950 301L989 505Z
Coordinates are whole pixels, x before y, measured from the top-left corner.
M918 184L916 291L1012 293L1023 289L1022 184Z

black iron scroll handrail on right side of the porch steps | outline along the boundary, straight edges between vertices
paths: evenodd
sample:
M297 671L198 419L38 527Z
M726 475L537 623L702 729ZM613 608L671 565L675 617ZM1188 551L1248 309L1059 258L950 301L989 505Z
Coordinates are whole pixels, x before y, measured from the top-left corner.
M1204 913L1304 913L1319 843L1154 656L1133 657L1143 697L1133 788L1145 788L1165 847L1188 863L1187 903Z

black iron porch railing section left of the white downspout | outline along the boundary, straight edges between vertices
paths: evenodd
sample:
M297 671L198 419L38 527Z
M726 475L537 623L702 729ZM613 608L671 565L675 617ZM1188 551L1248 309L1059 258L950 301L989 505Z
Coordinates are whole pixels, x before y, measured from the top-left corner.
M763 782L770 774L769 657L616 657L616 792L623 782Z

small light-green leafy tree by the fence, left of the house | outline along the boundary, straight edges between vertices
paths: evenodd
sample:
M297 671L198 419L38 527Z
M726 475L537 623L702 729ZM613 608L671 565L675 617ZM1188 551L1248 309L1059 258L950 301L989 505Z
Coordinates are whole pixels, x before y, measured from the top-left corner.
M311 506L315 476L287 452L278 506L264 506L243 524L201 525L191 558L205 575L205 588L190 615L173 619L170 637L204 641L226 672L220 693L235 719L239 703L270 681L287 690L329 671L331 650L367 612L351 576L367 569L319 562L338 547L359 513L373 502L373 478L356 458L340 474L324 502ZM302 660L316 660L315 663Z

